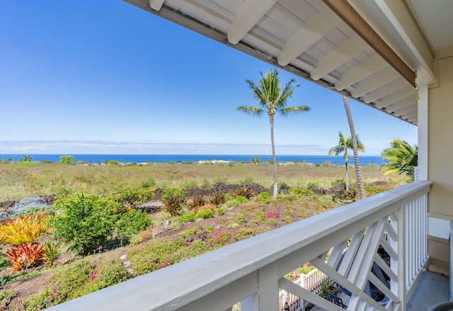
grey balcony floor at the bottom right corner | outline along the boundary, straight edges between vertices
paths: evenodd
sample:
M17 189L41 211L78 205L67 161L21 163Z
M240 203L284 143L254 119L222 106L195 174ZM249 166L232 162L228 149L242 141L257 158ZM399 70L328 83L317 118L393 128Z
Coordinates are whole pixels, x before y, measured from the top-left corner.
M449 279L439 273L423 273L411 300L406 305L407 311L428 311L433 305L449 300Z

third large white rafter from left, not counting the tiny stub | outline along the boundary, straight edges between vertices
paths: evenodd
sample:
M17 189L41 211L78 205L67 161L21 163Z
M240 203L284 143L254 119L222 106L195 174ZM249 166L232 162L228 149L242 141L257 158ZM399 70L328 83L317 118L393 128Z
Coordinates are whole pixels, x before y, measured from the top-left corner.
M336 50L333 50L319 60L318 64L316 64L316 68L310 74L311 78L314 80L321 79L329 72L340 67L345 62L348 62L348 60L366 47L367 43L365 43L358 35L354 35L348 41L337 47Z

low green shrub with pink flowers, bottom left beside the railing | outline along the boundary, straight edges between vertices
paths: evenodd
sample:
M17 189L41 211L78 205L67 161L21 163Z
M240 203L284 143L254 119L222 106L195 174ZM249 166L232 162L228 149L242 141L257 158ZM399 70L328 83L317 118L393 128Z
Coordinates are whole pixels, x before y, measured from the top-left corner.
M25 310L42 310L131 278L121 261L103 262L96 266L88 259L54 273L40 293L23 300Z

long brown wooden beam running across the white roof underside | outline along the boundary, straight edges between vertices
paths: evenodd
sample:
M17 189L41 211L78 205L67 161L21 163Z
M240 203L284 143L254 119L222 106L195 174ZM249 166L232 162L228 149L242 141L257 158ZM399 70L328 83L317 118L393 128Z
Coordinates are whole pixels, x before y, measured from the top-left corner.
M378 33L360 16L345 0L323 0L332 11L365 40L391 67L394 67L404 79L415 87L415 72L401 60L394 50L378 35Z

